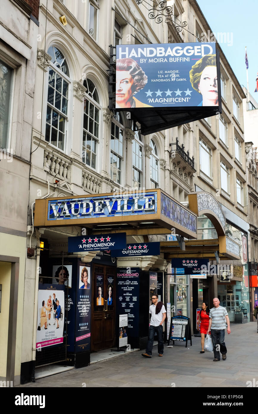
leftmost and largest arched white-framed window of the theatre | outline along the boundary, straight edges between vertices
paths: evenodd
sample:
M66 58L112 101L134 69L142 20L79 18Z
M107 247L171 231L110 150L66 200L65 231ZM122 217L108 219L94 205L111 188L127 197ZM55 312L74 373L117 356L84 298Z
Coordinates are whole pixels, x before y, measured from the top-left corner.
M55 47L48 49L52 56L48 72L48 102L45 140L65 151L68 121L69 70L63 54Z

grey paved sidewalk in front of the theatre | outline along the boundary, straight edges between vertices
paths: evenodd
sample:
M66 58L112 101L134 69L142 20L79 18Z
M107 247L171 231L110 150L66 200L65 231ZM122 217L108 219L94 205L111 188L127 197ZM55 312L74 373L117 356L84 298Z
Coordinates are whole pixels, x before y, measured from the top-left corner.
M164 347L158 357L153 348L152 359L142 357L143 351L123 354L118 358L97 362L91 366L66 371L36 380L17 388L41 387L246 387L247 381L258 380L258 334L254 322L231 324L231 334L225 333L226 361L213 362L213 353L200 354L200 338ZM96 369L98 368L98 369Z

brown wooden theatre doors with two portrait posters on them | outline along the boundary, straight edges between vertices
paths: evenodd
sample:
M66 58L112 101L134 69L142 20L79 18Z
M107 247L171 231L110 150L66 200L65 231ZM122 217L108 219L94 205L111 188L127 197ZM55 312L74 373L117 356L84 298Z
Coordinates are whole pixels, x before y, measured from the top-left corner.
M91 351L115 344L116 267L93 264Z

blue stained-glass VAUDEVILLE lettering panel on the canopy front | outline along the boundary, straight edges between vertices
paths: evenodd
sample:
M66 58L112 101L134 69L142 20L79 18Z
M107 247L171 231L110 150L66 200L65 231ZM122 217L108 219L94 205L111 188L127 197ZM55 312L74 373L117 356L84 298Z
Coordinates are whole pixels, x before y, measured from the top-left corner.
M48 220L114 217L157 212L157 194L135 193L48 201Z

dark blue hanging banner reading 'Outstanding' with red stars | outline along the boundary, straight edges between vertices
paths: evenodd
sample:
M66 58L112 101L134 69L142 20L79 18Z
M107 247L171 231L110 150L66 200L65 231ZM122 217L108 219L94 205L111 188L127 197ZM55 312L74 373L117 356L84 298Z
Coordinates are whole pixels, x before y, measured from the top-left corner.
M131 256L155 256L160 253L160 242L129 243L126 248L111 250L111 256L116 258Z

